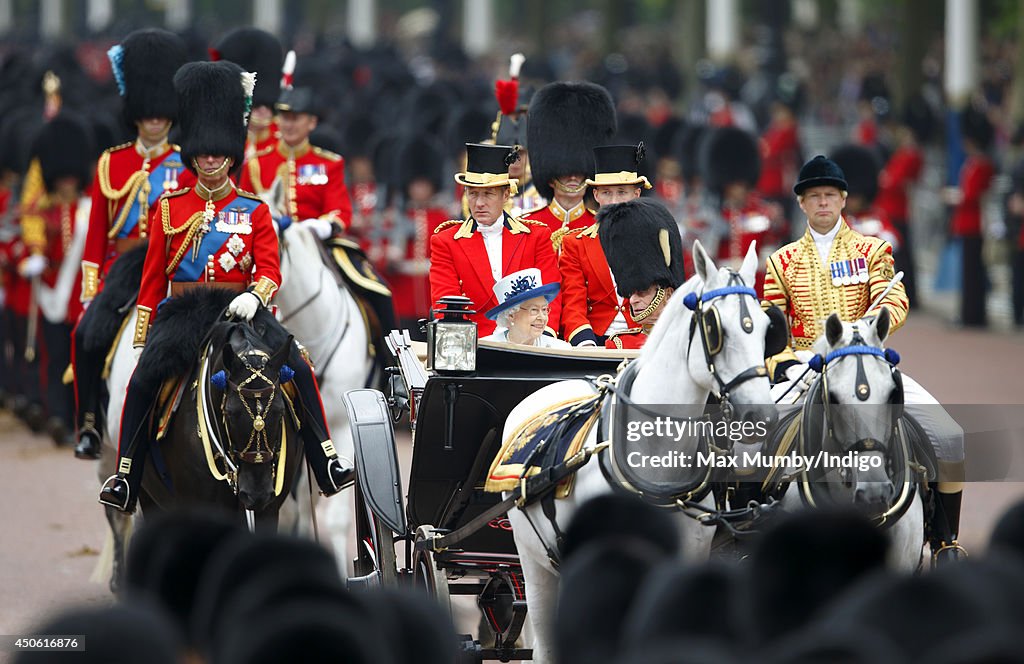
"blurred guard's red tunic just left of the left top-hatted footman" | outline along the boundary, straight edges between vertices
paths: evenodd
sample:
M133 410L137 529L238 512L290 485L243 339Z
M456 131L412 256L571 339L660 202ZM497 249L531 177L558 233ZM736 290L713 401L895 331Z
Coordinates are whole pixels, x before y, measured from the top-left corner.
M442 208L410 208L406 219L413 224L412 235L388 243L383 272L399 319L430 316L430 237L447 218Z

